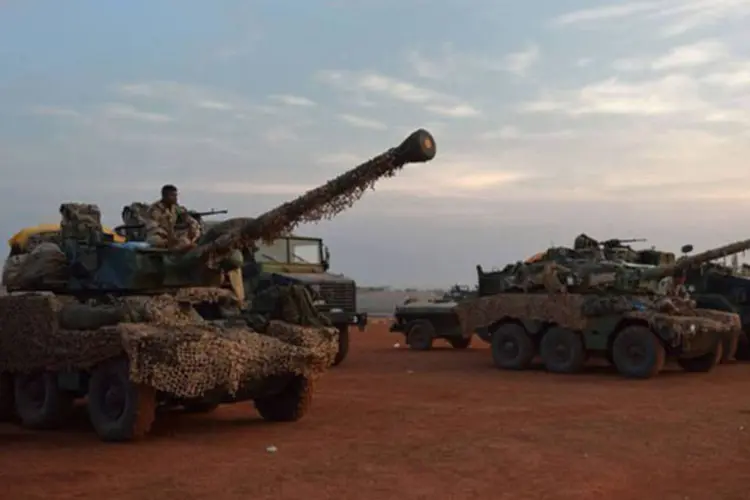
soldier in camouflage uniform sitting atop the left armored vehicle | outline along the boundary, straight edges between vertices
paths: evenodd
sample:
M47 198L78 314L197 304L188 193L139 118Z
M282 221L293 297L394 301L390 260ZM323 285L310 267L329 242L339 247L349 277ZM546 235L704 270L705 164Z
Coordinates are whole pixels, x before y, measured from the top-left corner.
M145 214L146 241L155 247L172 250L193 248L201 235L200 224L177 203L177 188L161 188L161 199L152 203ZM178 219L186 227L178 227Z

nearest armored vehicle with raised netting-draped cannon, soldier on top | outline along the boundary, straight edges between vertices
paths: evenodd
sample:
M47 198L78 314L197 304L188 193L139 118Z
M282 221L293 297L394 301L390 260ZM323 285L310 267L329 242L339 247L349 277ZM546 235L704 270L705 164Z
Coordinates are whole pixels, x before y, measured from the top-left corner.
M235 218L185 252L116 243L96 205L64 203L60 239L5 273L0 297L0 411L24 426L62 424L85 398L105 441L148 432L157 408L204 411L252 400L270 421L308 410L337 332L307 289L277 286L244 307L222 287L242 251L300 222L332 217L378 179L435 155L418 130L400 146L257 218Z

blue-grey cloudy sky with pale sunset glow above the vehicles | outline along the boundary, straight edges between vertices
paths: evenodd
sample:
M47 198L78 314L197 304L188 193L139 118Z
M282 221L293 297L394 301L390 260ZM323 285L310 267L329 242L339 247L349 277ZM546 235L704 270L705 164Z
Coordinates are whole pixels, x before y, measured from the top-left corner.
M469 8L469 5L471 6ZM362 284L471 283L585 231L748 237L750 0L0 2L0 233L174 183L252 215L424 127L332 221Z

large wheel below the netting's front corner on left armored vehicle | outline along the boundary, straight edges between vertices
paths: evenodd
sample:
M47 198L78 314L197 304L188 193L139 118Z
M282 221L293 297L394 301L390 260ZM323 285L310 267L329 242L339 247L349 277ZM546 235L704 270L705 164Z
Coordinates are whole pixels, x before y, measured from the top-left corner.
M156 416L156 391L130 381L128 361L114 359L94 368L89 380L88 412L102 441L142 438Z

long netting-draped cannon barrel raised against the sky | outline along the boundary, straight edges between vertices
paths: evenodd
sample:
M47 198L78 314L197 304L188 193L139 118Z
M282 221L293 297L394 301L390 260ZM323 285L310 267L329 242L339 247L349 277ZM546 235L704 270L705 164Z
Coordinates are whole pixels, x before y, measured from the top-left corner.
M399 146L362 163L322 186L283 203L255 218L228 219L212 227L191 253L197 257L250 248L291 232L301 222L330 219L359 200L381 177L392 177L407 163L424 163L435 157L435 139L424 129L409 135Z

